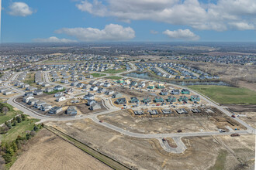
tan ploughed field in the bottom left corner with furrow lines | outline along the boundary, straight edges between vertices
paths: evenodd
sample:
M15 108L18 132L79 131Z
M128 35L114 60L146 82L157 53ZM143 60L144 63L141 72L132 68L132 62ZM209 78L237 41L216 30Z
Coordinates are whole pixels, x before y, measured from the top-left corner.
M33 163L32 163L33 162ZM84 151L43 129L29 141L12 169L111 169Z

